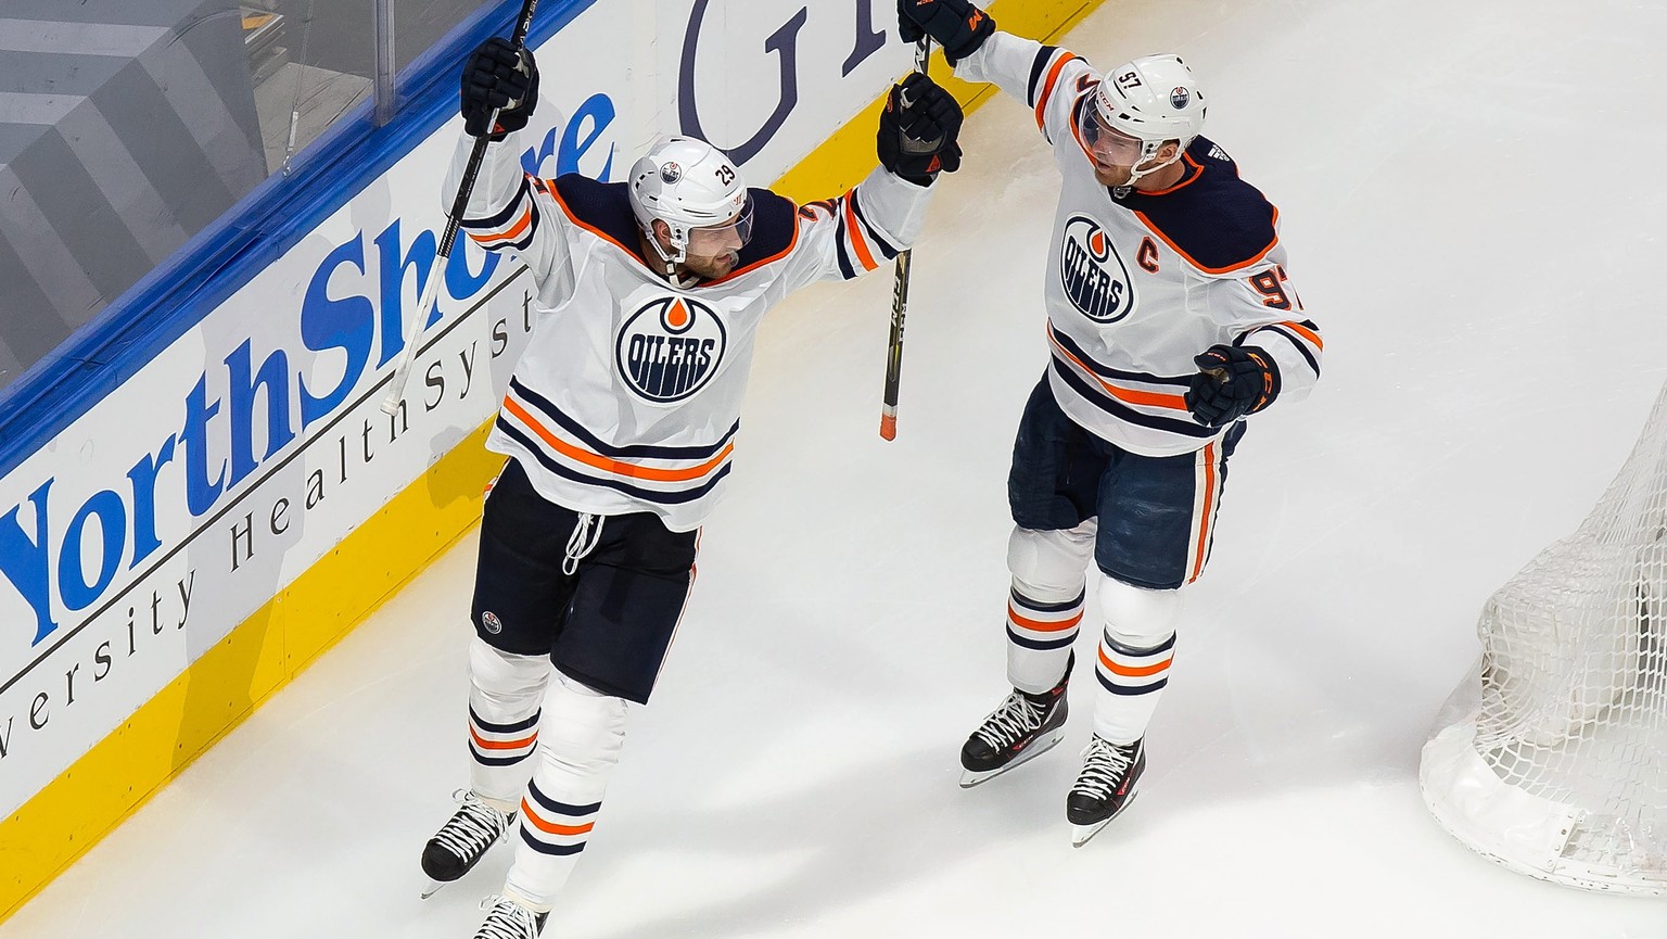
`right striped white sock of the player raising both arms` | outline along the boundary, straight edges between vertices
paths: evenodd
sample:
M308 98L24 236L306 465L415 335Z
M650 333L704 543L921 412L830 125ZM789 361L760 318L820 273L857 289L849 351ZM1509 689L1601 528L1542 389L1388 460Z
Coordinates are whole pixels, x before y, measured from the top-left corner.
M505 891L548 909L602 809L625 744L625 700L557 672L545 697L543 741L520 804L520 842Z

